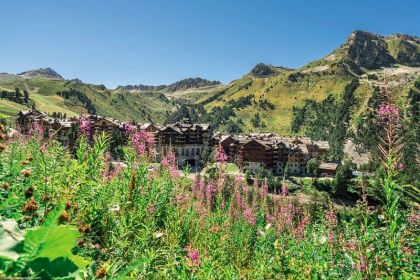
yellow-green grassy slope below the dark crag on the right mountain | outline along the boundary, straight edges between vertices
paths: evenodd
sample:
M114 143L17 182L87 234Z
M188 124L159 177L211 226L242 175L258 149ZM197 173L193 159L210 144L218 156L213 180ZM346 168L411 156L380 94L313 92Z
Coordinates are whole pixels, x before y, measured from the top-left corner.
M397 42L398 40L393 37L388 40L388 52L391 55L395 56L401 48L399 42ZM246 131L271 131L290 134L293 106L302 106L305 99L323 100L330 93L338 96L345 85L356 76L351 70L343 68L342 62L344 57L345 51L343 46L341 46L327 56L294 71L282 69L278 71L277 75L267 78L245 75L229 84L226 92L218 99L206 104L205 108L211 110L215 106L223 106L229 100L236 100L242 96L254 94L255 100L258 101L261 97L265 98L275 105L275 109L261 110L256 104L253 104L237 111L236 115L238 119L244 122ZM372 71L369 72L372 73ZM406 74L384 75L383 69L373 72L380 77L379 83L376 84L383 84L382 79L384 78L390 81L390 85L392 82L397 81L397 85L391 85L391 92L396 101L402 105L409 88L414 83L415 79L412 79L413 74L411 79L407 79ZM298 77L296 81L292 82L287 78L291 73L303 74L303 77ZM242 88L243 85L250 81L252 81L250 87L247 89ZM354 118L366 109L367 101L374 89L374 83L366 78L361 79L360 82L360 86L355 92L357 106L353 112ZM213 92L213 94L215 93ZM202 99L198 101L202 101ZM262 121L265 122L266 128L254 128L252 126L251 119L256 112L259 113Z

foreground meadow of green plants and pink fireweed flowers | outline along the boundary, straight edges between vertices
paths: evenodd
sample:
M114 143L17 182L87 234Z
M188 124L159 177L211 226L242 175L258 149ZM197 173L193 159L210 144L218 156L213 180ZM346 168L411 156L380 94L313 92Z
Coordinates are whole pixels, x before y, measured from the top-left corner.
M169 153L131 135L125 161L110 140L82 137L72 156L32 136L0 144L0 276L192 279L414 279L419 212L399 184L399 113L383 104L382 166L354 209L300 204L226 175L191 181ZM87 132L88 133L88 132ZM184 173L188 173L185 171ZM377 205L369 203L375 195Z

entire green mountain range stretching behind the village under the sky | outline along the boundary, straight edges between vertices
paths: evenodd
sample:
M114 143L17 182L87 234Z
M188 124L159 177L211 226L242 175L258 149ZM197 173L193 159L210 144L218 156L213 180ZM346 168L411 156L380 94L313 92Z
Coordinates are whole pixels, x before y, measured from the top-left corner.
M396 101L404 104L419 76L419 37L354 31L337 49L300 68L260 63L226 85L188 78L170 85L128 85L111 90L64 80L46 68L19 75L0 74L0 91L27 90L31 101L47 112L74 115L94 108L98 114L122 120L163 123L182 116L189 108L197 110L191 115L206 117L220 130L239 127L243 132L290 134L294 112L307 100L321 102L330 94L339 98L355 78L359 83L354 87L357 104L351 111L351 125L369 106L375 87L387 81ZM1 102L0 113L6 115L27 106L13 100Z

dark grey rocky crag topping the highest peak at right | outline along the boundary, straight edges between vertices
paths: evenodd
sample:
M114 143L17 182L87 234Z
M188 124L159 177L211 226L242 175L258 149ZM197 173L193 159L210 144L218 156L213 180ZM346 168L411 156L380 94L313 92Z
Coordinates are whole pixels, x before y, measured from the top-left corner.
M375 69L395 63L386 41L379 35L355 31L343 46L345 58L358 66Z

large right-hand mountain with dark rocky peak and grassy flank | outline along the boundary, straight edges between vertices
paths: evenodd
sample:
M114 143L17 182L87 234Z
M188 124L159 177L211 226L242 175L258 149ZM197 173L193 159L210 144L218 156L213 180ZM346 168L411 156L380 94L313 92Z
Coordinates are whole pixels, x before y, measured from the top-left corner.
M256 65L248 74L220 89L198 98L214 115L229 111L231 104L251 98L247 106L234 108L229 118L220 120L220 129L229 130L232 123L243 131L291 133L293 112L305 100L322 101L329 94L338 98L354 78L360 80L355 89L357 105L352 111L356 119L367 106L374 88L385 80L397 100L403 102L417 77L420 76L420 38L394 34L381 36L354 31L347 40L323 58L298 69Z

